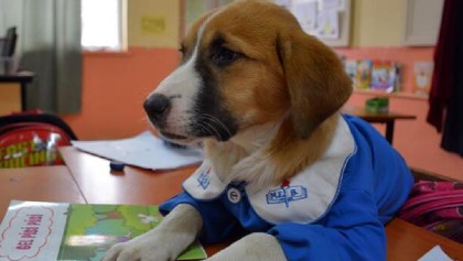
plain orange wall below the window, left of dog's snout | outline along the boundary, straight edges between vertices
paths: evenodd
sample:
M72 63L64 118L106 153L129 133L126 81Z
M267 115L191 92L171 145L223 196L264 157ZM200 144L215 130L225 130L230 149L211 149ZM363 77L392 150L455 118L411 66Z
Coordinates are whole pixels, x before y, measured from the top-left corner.
M82 140L120 139L149 127L144 98L175 68L176 48L84 54L82 111L63 116Z

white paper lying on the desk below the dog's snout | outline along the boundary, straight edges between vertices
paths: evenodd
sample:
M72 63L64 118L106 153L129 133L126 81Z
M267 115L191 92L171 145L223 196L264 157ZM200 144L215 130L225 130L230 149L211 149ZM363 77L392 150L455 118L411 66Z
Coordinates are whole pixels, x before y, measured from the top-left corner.
M175 149L149 131L121 140L73 141L78 150L150 170L171 170L203 161L201 148Z

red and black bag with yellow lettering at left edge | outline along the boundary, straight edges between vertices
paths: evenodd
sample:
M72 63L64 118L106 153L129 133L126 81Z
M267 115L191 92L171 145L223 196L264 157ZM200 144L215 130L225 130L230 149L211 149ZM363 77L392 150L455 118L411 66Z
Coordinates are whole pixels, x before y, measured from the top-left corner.
M0 117L0 168L63 164L58 146L77 140L60 117L20 113Z

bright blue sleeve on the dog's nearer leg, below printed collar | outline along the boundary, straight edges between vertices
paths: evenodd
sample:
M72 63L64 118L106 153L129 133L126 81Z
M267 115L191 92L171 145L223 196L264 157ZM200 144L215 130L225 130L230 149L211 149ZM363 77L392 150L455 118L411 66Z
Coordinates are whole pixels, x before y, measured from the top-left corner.
M316 225L287 222L269 230L292 260L386 260L386 236L374 197L363 191L341 192Z

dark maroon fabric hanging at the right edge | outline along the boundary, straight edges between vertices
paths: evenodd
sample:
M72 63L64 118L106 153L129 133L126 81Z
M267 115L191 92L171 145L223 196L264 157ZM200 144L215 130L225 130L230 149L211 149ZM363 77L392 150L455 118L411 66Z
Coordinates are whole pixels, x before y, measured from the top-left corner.
M441 146L463 156L463 1L445 0L434 50L427 121L442 131Z

